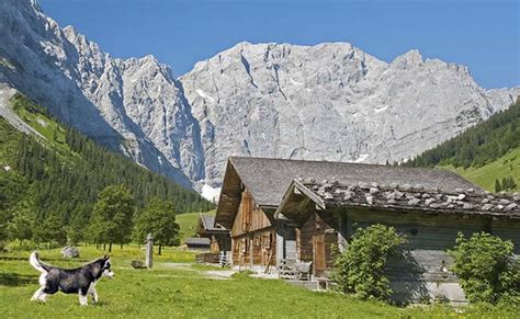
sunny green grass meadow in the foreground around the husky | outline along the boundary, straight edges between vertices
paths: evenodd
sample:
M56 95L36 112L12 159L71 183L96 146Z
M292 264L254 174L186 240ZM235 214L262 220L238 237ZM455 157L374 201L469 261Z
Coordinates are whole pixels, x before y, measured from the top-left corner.
M43 250L48 263L74 267L103 255L94 247L80 247L81 258L65 260L59 250ZM194 265L194 254L167 248L155 255L152 270L134 270L143 259L136 246L112 253L113 280L98 285L100 303L81 307L77 295L58 293L46 304L31 301L38 275L27 262L30 252L0 253L0 314L2 318L519 318L512 308L471 306L395 307L361 301L337 293L294 287L280 280L246 274L215 276L222 269ZM212 273L210 274L208 271ZM90 303L90 299L89 299Z

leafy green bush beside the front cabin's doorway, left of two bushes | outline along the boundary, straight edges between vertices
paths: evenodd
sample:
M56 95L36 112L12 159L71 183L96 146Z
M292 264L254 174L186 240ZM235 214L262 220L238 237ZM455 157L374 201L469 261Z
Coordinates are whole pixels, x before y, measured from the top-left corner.
M332 280L344 293L366 299L386 300L392 295L385 277L388 258L403 258L398 247L406 238L393 227L372 225L359 228L342 254L335 260Z

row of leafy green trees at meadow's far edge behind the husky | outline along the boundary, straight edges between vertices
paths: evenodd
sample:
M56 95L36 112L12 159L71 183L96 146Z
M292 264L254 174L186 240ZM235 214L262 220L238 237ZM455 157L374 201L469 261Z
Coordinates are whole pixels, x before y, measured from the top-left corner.
M179 244L179 225L176 223L173 203L158 197L150 198L143 208L137 209L134 196L124 185L110 185L100 192L91 216L76 218L67 226L60 226L56 216L38 220L25 213L18 213L5 224L5 236L10 240L32 240L38 246L52 242L78 244L88 242L99 249L112 251L113 244L123 248L132 241L144 243L151 233L159 246Z

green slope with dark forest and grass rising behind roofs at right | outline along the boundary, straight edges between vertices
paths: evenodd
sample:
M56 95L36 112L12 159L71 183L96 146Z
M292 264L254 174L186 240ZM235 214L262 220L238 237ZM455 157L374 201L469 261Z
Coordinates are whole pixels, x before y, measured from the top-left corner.
M479 171L481 176L473 176L476 182L482 180L481 182L489 184L495 180L495 192L515 191L520 183L516 156L519 150L520 99L509 109L494 114L487 121L403 166L453 167L463 174ZM498 173L498 176L491 178L494 173ZM485 176L491 180L484 181ZM491 190L489 186L488 189Z

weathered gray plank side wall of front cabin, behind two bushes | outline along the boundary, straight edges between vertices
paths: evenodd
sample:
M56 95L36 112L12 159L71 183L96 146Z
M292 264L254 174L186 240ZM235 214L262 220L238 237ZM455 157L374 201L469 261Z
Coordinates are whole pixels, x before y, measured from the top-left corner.
M332 213L329 213L332 215ZM483 216L461 216L425 213L350 209L342 229L350 240L359 227L373 224L393 226L408 238L403 246L405 260L388 261L387 275L395 288L395 299L410 300L443 295L452 301L464 301L457 278L449 271L453 260L446 250L455 246L461 231L466 237L474 232L490 231L520 246L520 223L493 220ZM343 215L344 216L344 215ZM343 230L344 231L344 230Z

